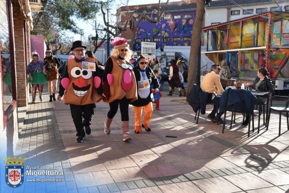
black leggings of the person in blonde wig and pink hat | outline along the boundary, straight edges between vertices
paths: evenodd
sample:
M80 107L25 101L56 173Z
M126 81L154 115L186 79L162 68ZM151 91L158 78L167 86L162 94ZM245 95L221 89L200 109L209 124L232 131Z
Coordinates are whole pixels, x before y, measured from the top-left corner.
M110 110L107 113L107 117L112 119L118 112L119 108L121 113L121 121L128 121L128 105L129 100L125 96L120 100L114 100L113 102L109 103Z

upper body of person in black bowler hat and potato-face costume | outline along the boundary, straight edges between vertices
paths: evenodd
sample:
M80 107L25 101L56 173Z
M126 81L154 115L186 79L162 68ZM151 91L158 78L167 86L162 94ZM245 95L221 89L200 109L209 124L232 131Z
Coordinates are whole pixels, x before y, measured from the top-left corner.
M68 78L61 80L66 90L64 104L86 105L102 99L102 96L97 93L101 79L93 76L94 71L83 68L83 62L88 62L94 64L94 69L97 70L95 61L92 58L85 58L85 48L83 42L73 42L71 50L75 54L75 59L68 60Z

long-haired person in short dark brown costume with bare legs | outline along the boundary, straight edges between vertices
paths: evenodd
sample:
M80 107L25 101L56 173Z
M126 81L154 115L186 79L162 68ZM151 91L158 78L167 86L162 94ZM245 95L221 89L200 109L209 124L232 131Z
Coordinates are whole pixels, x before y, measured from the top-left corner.
M46 78L48 83L48 92L49 92L49 102L52 102L52 98L55 101L56 85L59 78L58 69L61 67L61 64L57 58L53 57L52 51L47 49L45 52L46 56L44 58L44 64L46 69Z

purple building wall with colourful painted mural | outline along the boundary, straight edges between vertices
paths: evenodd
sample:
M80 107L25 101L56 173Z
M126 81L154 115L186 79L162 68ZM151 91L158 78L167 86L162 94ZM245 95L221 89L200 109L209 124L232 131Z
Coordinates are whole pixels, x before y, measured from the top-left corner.
M190 18L184 18L191 16ZM171 13L171 18L180 16L179 19L163 19L157 23L141 21L136 32L136 42L134 50L141 50L141 41L151 41L156 43L156 48L164 46L190 46L192 26L194 24L195 12ZM153 18L154 15L152 15ZM148 40L149 39L149 40Z

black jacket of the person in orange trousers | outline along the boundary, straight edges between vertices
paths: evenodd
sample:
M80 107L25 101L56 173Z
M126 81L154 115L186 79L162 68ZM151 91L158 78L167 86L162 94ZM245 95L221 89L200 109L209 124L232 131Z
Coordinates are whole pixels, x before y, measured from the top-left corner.
M140 73L139 71L140 68L137 65L136 67L134 67L134 73L135 73L135 77L136 77L136 86L137 86L137 100L132 102L131 104L136 106L136 107L143 107L147 104L149 104L149 102L151 102L153 100L153 94L152 94L152 90L149 94L149 96L147 98L141 98L138 96L138 85L137 85L137 81L140 81ZM149 79L150 85L153 85L152 88L159 88L159 83L157 78L155 77L152 68L150 68L149 66L146 67L145 69L146 71L146 75Z

